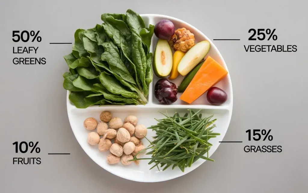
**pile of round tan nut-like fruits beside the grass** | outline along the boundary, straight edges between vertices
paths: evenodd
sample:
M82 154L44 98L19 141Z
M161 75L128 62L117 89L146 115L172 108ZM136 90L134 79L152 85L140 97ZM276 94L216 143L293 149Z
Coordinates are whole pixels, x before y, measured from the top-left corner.
M99 151L110 151L107 163L131 164L132 161L129 160L132 160L138 152L144 149L140 139L147 135L147 128L142 124L137 125L138 119L135 115L128 115L123 122L119 117L112 118L109 111L103 111L99 118L100 122L93 117L84 120L84 128L92 130L87 136L87 142L90 145L98 144ZM93 131L95 129L96 132ZM139 154L137 158L138 156ZM134 162L138 165L140 160Z

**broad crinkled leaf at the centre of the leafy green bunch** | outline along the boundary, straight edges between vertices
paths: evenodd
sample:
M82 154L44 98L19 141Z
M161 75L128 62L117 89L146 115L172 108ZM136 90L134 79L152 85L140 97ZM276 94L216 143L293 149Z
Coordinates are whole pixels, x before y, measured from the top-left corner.
M113 42L105 42L103 43L103 47L105 52L102 54L101 59L103 61L107 61L109 65L109 69L112 72L118 74L121 78L130 82L132 84L136 84L134 78L124 65L123 61L120 58L118 48L113 44Z

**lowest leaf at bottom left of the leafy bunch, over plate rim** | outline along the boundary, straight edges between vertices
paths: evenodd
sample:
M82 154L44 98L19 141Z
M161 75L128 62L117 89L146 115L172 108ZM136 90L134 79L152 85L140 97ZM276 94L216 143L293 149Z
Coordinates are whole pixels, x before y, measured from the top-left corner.
M77 108L87 108L90 105L106 103L102 103L102 98L100 96L86 98L86 96L89 96L90 94L93 93L90 91L71 92L68 98Z

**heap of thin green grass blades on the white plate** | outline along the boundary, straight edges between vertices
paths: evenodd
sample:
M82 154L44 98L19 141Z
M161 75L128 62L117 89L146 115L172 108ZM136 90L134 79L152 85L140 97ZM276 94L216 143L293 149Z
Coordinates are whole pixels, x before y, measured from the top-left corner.
M166 118L157 120L158 124L149 127L156 131L156 136L153 137L154 141L150 141L150 145L144 149L151 149L147 154L152 154L148 164L155 163L153 167L163 167L166 170L172 166L172 170L178 166L182 172L185 167L191 167L194 162L199 158L213 161L209 158L209 149L212 146L209 143L209 139L220 135L220 133L214 133L213 128L216 127L214 122L216 119L212 119L212 116L202 118L201 111L194 112L188 110L184 116L180 116L179 113L175 113L172 117L165 115ZM207 153L207 156L204 156ZM134 160L137 159L136 156Z

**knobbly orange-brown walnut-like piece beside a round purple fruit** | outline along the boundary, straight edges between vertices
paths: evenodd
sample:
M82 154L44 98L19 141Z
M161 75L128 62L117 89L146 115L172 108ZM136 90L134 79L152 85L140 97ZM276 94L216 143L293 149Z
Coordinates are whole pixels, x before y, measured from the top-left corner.
M187 52L190 48L193 47L195 43L195 37L193 33L183 27L175 31L168 43L171 47L173 47L174 50Z

